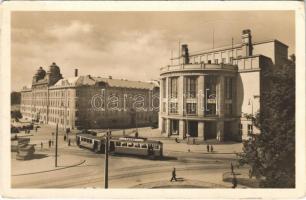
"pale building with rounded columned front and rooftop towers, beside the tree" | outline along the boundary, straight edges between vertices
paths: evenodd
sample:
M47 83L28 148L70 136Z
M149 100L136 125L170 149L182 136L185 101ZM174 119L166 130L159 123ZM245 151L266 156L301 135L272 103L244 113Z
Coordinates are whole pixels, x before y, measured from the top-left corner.
M181 55L160 69L159 128L167 136L219 141L259 133L250 117L259 112L268 90L263 74L288 60L288 46L278 40L242 43Z

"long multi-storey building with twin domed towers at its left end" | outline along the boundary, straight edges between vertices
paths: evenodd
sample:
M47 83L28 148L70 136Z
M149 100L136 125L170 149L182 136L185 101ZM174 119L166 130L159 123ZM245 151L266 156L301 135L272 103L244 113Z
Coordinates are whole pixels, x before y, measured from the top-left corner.
M53 63L40 67L21 91L27 120L63 128L127 128L158 123L158 82L78 76L63 78Z

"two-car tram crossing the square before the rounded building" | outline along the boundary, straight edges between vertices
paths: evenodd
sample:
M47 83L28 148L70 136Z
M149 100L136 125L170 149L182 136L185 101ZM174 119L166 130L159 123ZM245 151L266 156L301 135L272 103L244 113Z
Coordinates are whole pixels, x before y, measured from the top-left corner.
M105 136L86 133L76 135L76 142L79 147L90 149L95 153L105 152L105 141ZM111 154L146 156L151 159L161 158L163 156L163 143L142 137L110 137L109 152Z

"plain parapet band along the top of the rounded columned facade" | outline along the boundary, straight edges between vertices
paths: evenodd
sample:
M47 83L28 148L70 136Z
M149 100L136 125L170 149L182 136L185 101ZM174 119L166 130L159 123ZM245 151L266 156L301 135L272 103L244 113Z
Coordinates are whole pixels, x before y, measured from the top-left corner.
M160 74L169 72L179 71L230 71L237 72L238 67L231 64L207 64L207 63L196 63L196 64L180 64L180 65L168 65L160 68Z

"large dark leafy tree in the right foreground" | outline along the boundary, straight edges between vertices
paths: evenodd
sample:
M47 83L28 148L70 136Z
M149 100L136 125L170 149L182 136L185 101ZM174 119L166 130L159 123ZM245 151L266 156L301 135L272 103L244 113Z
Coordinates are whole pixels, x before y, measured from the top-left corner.
M239 154L240 164L262 177L261 187L295 187L295 56L291 58L265 75L270 88L255 117L261 133L245 141Z

